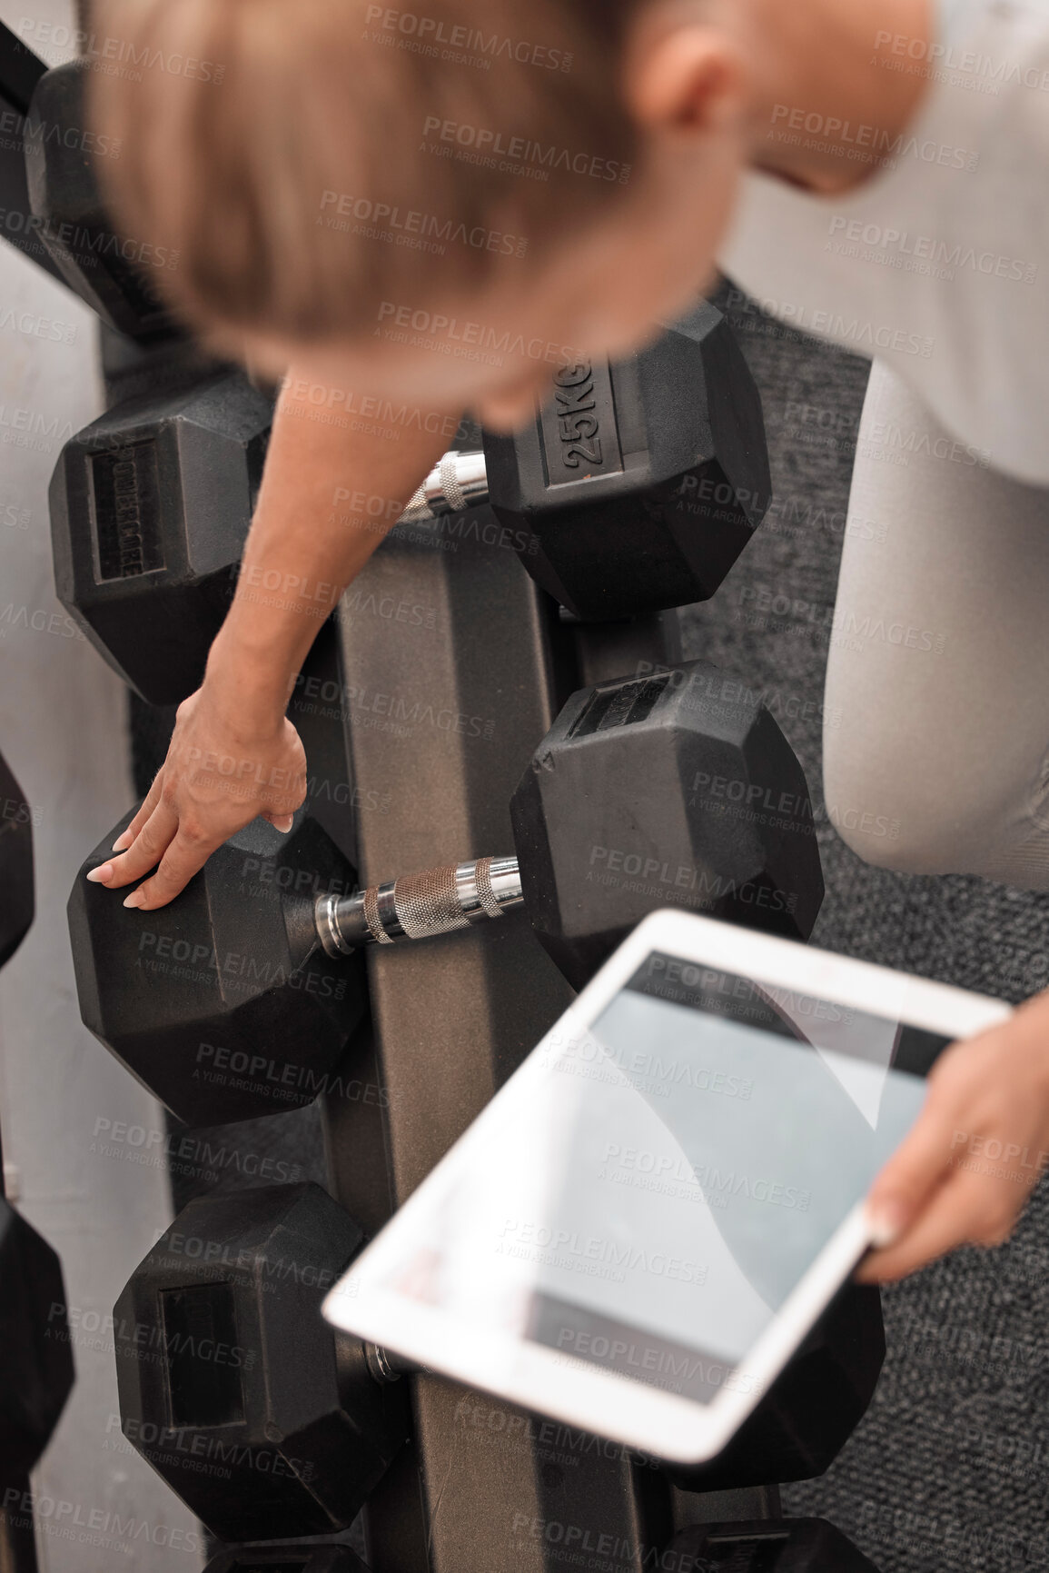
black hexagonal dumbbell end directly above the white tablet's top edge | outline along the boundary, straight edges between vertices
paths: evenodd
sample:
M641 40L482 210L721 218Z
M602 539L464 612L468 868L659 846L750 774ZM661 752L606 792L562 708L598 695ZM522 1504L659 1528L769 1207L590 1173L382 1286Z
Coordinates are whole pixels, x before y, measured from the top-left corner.
M703 661L574 694L511 818L528 917L574 988L661 906L788 939L819 912L801 763L760 700Z

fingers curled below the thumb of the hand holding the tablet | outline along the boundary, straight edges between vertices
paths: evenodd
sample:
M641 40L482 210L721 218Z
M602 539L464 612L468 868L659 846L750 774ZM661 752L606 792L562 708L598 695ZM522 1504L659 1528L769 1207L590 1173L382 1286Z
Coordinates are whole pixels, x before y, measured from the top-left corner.
M1025 1191L1018 1194L1014 1181L955 1169L914 1225L893 1246L870 1255L857 1277L865 1284L892 1284L956 1246L1003 1244L1025 1197Z

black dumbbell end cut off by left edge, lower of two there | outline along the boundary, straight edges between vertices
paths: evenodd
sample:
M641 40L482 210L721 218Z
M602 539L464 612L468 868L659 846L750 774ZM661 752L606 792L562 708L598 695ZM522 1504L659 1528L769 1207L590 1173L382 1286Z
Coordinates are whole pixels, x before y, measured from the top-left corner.
M44 1452L72 1387L61 1263L0 1199L0 1482Z

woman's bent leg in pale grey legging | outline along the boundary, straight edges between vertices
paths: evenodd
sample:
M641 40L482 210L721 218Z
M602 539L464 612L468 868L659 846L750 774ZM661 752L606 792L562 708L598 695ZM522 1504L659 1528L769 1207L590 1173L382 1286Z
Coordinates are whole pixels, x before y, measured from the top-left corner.
M974 464L874 365L824 790L867 862L1049 889L1049 492Z

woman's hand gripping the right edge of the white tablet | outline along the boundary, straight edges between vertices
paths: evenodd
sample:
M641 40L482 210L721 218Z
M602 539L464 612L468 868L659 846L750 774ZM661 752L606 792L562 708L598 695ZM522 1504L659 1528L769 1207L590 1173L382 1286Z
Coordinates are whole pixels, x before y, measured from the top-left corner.
M933 1066L922 1115L876 1180L882 1246L859 1279L906 1277L955 1246L1003 1244L1049 1166L1049 994Z

